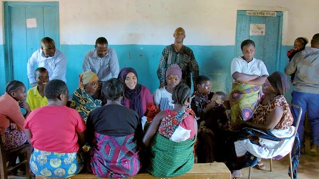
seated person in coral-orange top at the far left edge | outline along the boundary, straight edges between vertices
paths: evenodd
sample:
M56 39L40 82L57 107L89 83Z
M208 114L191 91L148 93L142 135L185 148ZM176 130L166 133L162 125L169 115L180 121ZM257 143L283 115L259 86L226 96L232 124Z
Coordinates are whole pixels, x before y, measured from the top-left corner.
M26 86L16 80L10 81L4 94L0 96L0 135L4 150L20 147L27 142L23 125L31 110L25 102L26 97ZM22 115L20 108L27 112ZM8 167L14 165L15 160L10 161Z

